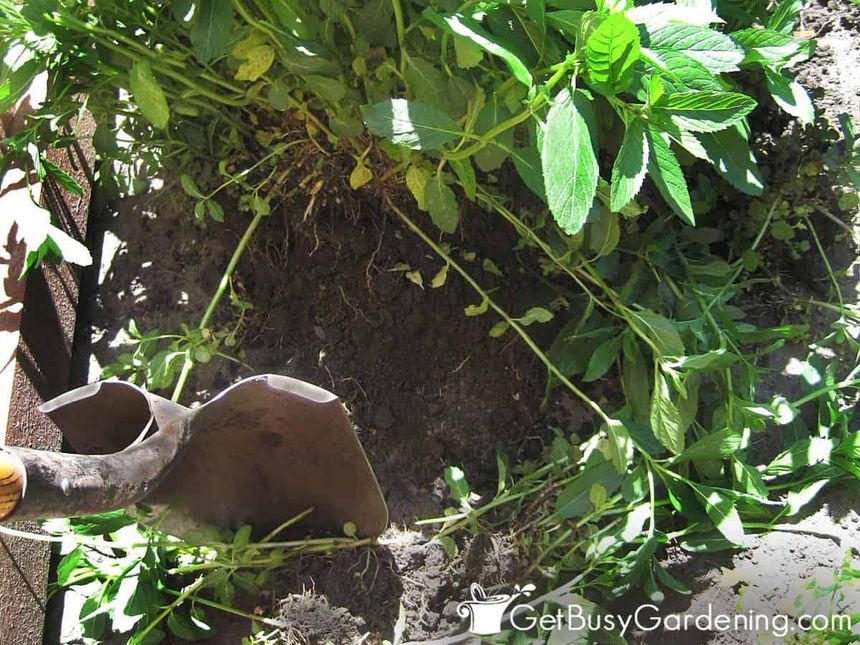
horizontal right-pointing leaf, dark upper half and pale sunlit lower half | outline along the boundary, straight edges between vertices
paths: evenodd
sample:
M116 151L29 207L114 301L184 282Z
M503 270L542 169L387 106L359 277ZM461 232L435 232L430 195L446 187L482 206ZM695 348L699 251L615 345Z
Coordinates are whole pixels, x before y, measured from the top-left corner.
M755 108L756 102L736 92L682 92L665 94L652 108L679 128L691 132L718 132L734 125Z

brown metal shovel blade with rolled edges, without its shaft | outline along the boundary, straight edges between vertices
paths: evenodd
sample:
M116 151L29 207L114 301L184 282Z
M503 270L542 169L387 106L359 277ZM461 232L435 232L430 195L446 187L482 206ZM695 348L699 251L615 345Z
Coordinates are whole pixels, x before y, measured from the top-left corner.
M81 454L122 457L165 434L190 437L177 442L166 474L140 500L171 508L161 523L171 533L241 524L267 533L308 509L293 535L340 534L352 522L357 535L374 537L388 522L340 400L298 379L248 378L195 409L106 382L65 394L45 411Z

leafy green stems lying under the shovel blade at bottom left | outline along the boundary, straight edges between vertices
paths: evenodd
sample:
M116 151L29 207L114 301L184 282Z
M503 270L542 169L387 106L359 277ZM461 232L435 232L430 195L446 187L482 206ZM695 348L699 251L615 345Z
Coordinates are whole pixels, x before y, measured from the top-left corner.
M206 639L216 634L206 616L211 609L249 619L259 627L255 632L271 632L283 625L236 609L237 593L259 595L272 571L300 553L368 543L349 536L275 540L305 514L257 542L250 526L227 541L214 534L183 541L157 530L159 518L134 518L125 511L51 520L44 528L64 545L51 591L71 588L84 596L82 635L96 641L110 633L128 634L133 645L161 642L167 632L189 641ZM259 640L265 642L262 635Z

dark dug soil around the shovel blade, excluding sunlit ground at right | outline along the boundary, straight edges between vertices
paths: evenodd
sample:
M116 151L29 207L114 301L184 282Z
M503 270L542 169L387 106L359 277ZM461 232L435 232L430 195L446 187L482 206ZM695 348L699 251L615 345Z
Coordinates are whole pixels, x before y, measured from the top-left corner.
M242 233L241 216L201 230L164 196L172 194L129 200L110 218L105 248L112 257L105 258L109 268L88 311L93 365L115 360L129 318L141 330L163 332L196 323ZM493 314L464 315L480 298L453 271L431 288L444 262L378 205L364 202L357 211L296 223L300 206L264 222L236 273L234 287L254 305L240 343L247 367L214 360L196 368L185 398L205 400L255 373L302 378L337 393L379 479L392 526L373 549L302 558L280 572L265 598L248 602L271 605L289 617L291 633L309 642L320 633L314 620L370 632L371 642L391 638L401 604L409 638L450 633L461 622L456 600L469 584L488 590L509 584L523 563L492 536L462 543L452 562L429 541L432 527L416 532L414 520L437 517L452 504L444 466L461 466L474 491L492 495L496 447L512 460L534 456L551 427L575 431L585 414L558 390L543 403L546 374L533 354L510 333L490 338ZM468 242L452 245L464 244L455 257L485 288L500 288L494 298L516 316L556 294L523 268L532 262L512 253L517 239L505 227L489 215L467 214L462 239ZM147 261L153 248L161 255ZM463 260L464 252L474 259ZM484 270L485 259L504 277ZM395 270L403 264L421 272L424 288ZM231 320L225 304L214 326ZM557 326L529 331L546 345ZM90 378L96 377L93 367ZM232 636L222 642L234 642L232 624L223 628Z

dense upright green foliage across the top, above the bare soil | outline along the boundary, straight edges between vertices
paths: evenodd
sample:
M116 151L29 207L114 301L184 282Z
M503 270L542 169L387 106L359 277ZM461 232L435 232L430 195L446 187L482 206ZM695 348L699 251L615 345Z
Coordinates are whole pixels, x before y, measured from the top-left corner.
M493 173L511 157L570 235L589 221L597 159L606 153L618 159L605 204L613 212L636 208L632 200L650 174L673 210L693 222L673 146L709 162L740 190L760 192L744 126L755 102L728 76L741 68L759 69L781 108L804 123L813 118L790 76L812 51L792 36L799 11L792 2L781 3L767 27L731 32L721 28L723 7L715 13L702 3L584 2L547 10L525 2L451 12L435 0L279 0L271 7L197 0L157 12L157 21L121 4L49 4L54 11L0 6L12 25L4 46L25 52L4 64L7 96L19 95L37 69L53 75L57 91L45 116L55 117L56 129L42 128L43 142L60 136L64 116L85 97L103 128L101 154L181 167L205 193L215 176L207 156L244 158L249 135L263 148L271 140L272 133L261 139L259 130L249 131L242 110L296 111L311 136L322 132L330 142L360 137L363 121L393 144L385 150L401 168L421 163L401 146L438 165L427 210L447 233L457 228L462 198L474 199L474 166ZM102 14L110 19L93 21ZM341 62L343 52L351 64ZM116 88L128 90L128 99ZM592 112L601 113L599 122ZM122 151L107 134L118 118L132 138ZM666 141L649 146L644 165L643 132L652 143ZM613 149L614 137L626 143L623 154ZM357 190L377 174L357 172ZM195 212L223 218L216 202Z

